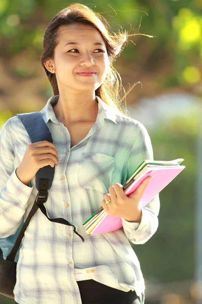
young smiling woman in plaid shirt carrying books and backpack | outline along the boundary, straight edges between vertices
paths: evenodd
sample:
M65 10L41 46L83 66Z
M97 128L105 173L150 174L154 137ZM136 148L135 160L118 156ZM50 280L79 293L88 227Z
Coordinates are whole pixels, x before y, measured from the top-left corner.
M74 4L59 12L44 34L41 63L53 87L41 115L53 142L30 143L17 116L0 137L0 237L14 234L35 200L35 174L56 165L45 203L31 219L17 264L19 304L140 304L144 280L130 240L143 244L158 227L159 197L140 206L145 179L129 197L123 184L153 159L144 126L119 110L119 80L112 63L127 40L111 34L99 15ZM16 170L17 169L17 170ZM3 173L3 174L2 174ZM90 236L83 223L102 204L123 228Z

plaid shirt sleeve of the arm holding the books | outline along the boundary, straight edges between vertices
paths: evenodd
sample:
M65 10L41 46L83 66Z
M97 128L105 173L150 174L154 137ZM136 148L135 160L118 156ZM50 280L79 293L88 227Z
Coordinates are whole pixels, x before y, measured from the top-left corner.
M142 124L139 124L139 132L133 143L125 167L125 181L144 160L154 160L153 148L146 128ZM144 244L157 231L160 210L159 195L154 197L141 210L142 218L140 223L128 222L122 218L124 232L127 238L134 244Z

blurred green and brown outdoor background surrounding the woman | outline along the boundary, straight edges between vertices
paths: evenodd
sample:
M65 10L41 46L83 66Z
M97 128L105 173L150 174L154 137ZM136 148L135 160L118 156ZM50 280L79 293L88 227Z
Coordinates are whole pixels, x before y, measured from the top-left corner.
M137 83L127 95L127 110L147 128L155 160L183 158L186 169L160 193L157 233L132 247L145 278L145 304L201 303L202 1L79 3L102 14L112 31L154 36L132 37L114 67L126 91ZM70 4L0 1L0 130L17 113L41 110L53 95L40 64L43 34ZM1 304L13 302L0 296Z

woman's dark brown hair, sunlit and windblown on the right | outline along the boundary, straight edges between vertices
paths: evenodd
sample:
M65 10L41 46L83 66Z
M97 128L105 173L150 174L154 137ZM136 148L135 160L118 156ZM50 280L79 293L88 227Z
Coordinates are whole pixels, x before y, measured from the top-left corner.
M53 94L59 95L59 89L56 79L56 74L49 72L44 62L48 59L54 58L54 50L58 45L58 31L61 26L73 24L73 23L83 23L94 26L99 33L102 35L105 41L110 67L103 84L96 89L95 95L100 97L106 104L113 107L114 109L123 112L120 104L125 94L121 99L119 96L119 91L122 86L121 77L119 73L113 67L113 62L120 55L124 44L127 41L127 32L110 33L108 30L109 24L101 15L94 13L90 8L82 4L71 4L64 10L60 11L52 20L49 22L43 38L43 53L40 56L41 64L47 75L49 82L53 88ZM134 34L133 34L134 35ZM132 88L134 85L132 86ZM132 89L131 88L131 89ZM124 88L123 88L124 89ZM130 90L131 90L130 89ZM129 91L130 91L129 90ZM125 91L124 91L125 92Z

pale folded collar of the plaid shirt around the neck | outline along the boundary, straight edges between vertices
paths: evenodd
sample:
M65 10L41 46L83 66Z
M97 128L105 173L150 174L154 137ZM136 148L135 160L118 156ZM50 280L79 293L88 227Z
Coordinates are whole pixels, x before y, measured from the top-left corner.
M53 110L53 105L55 105L58 102L59 96L60 95L54 95L51 98L49 98L44 108L40 111L43 120L46 124L49 120L51 120L56 124L59 123L59 121L56 118L55 112ZM111 120L113 123L117 124L116 111L113 108L111 108L109 105L107 105L98 96L96 96L96 100L98 102L98 113L96 119L97 127L98 128L102 127L104 125L105 119Z

